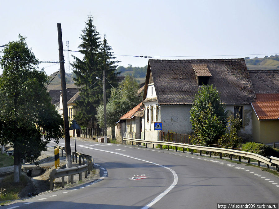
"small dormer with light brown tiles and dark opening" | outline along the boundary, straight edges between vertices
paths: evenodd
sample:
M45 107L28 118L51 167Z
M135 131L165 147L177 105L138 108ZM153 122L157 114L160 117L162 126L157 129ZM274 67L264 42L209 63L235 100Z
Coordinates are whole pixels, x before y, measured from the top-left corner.
M207 64L195 64L192 65L197 78L197 85L209 85L210 77L212 76L207 68Z

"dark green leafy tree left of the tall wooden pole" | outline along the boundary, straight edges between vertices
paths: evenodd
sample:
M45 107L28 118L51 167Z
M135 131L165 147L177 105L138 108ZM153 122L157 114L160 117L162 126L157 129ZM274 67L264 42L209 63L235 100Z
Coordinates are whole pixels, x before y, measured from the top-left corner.
M63 119L51 105L44 89L48 76L37 71L38 60L28 49L25 37L19 35L18 41L10 42L2 52L0 144L10 143L14 148L15 165L22 157L34 162L52 138L58 141L62 137Z

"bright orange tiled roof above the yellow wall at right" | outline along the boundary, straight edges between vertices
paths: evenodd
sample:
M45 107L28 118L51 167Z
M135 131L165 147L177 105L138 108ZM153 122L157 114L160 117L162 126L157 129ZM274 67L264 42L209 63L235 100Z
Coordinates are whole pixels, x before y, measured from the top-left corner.
M256 94L253 108L259 120L279 119L279 94Z

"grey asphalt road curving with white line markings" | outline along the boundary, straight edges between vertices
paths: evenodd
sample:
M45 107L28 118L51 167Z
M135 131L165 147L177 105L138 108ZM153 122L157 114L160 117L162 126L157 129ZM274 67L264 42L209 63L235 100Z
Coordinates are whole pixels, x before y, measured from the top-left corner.
M279 202L279 178L260 168L168 150L76 143L77 151L94 157L100 178L1 209L216 208L217 203ZM74 151L73 141L71 145Z

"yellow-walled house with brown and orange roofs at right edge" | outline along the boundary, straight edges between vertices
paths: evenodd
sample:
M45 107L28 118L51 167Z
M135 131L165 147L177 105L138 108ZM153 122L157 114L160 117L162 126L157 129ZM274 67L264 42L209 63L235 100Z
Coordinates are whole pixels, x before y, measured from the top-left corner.
M253 70L249 75L256 93L251 103L253 141L279 144L279 70Z

